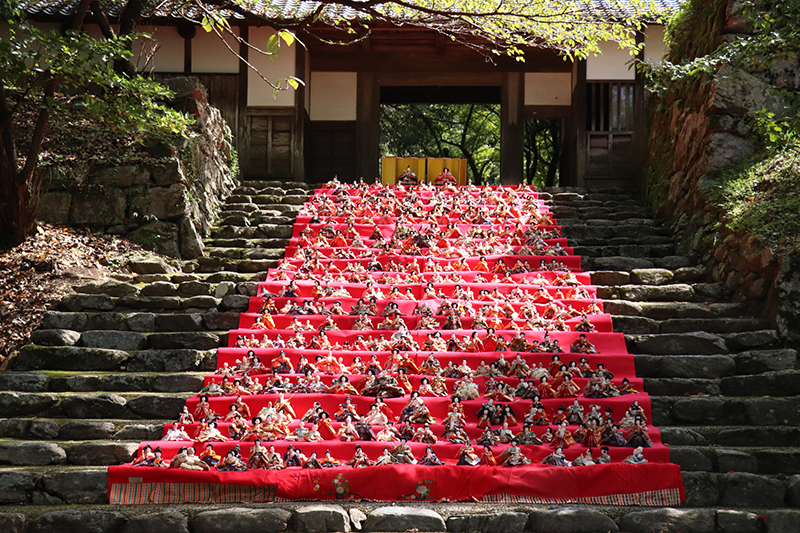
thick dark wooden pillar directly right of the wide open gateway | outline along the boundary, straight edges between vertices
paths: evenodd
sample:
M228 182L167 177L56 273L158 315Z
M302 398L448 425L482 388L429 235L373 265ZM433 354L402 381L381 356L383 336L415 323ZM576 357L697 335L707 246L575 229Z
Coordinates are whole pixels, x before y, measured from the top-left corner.
M507 72L500 91L500 183L525 177L525 75Z

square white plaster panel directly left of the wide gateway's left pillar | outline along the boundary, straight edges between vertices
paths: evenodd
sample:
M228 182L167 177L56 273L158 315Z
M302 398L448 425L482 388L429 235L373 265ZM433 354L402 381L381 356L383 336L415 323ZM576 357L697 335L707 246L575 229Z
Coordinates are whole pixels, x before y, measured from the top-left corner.
M312 72L311 120L355 120L358 105L358 74Z

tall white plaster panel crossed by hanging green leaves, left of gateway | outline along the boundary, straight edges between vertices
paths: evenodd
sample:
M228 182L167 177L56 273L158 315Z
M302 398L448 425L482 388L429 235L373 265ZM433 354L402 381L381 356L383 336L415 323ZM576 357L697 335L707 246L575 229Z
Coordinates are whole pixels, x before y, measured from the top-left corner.
M250 43L260 50L266 50L267 40L273 33L275 30L272 28L250 28ZM251 48L250 64L257 68L262 76L275 83L280 78L294 76L297 48L296 44L287 47L286 43L281 41L280 51L274 60ZM247 73L247 105L294 107L294 89L290 87L281 91L277 97L273 97L272 87L251 69Z

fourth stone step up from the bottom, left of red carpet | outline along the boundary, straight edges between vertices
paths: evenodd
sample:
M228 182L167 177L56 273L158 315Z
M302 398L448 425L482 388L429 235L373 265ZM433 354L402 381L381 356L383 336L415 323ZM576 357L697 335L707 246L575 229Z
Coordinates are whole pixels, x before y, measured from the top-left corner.
M173 420L93 420L71 418L0 419L0 439L17 440L159 440Z

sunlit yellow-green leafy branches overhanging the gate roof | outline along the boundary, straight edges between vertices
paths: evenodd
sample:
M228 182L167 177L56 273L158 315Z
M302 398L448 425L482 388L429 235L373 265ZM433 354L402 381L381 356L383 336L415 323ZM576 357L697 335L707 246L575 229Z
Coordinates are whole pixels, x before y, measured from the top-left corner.
M368 36L375 25L416 26L487 56L519 61L527 47L556 49L570 58L598 53L603 41L634 48L637 30L678 5L673 0L319 0L291 8L284 0L182 1L206 22L233 13L295 30L323 23L347 31L343 42Z

